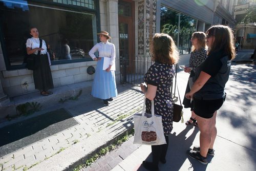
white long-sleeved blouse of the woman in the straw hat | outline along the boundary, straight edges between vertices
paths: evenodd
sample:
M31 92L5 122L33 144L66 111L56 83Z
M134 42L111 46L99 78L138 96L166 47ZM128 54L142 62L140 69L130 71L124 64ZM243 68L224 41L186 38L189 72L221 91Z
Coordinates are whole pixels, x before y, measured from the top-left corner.
M113 66L116 58L116 48L115 45L109 41L99 42L94 45L94 47L89 51L89 55L94 59L96 56L94 53L98 50L99 57L110 57L110 65Z

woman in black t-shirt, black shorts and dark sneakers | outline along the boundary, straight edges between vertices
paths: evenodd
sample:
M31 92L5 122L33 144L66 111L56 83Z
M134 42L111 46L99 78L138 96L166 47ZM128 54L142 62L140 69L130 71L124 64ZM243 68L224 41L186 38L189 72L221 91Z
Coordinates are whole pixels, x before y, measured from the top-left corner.
M207 30L207 59L197 68L196 81L185 97L194 99L193 112L200 129L200 147L194 147L188 156L207 164L207 154L214 156L217 135L216 115L225 100L225 84L230 73L231 59L235 57L234 37L228 26L212 26Z

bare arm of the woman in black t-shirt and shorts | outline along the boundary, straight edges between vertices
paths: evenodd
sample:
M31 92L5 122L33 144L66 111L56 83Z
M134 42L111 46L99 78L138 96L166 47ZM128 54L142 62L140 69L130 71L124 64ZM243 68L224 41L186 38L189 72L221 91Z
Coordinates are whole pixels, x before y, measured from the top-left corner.
M196 92L202 89L202 87L210 79L210 77L211 76L209 74L201 71L198 79L193 84L193 87L191 88L190 92L186 93L185 97L187 99L191 99Z

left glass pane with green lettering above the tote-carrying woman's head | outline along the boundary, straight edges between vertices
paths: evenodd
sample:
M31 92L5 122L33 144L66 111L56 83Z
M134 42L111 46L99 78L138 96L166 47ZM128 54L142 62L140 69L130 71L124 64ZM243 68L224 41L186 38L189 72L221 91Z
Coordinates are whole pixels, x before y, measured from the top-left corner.
M161 7L160 32L173 37L176 45L178 43L179 13L164 6ZM178 45L177 45L178 46Z

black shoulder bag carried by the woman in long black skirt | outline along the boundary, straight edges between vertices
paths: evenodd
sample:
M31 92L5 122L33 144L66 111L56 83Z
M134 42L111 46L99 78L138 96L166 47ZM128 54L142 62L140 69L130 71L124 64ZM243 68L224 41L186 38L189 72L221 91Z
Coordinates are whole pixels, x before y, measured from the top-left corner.
M40 46L39 48L42 47L42 39L40 39ZM39 55L40 55L40 52L41 51L38 51L37 52L37 55L36 54L31 54L31 55L28 55L27 57L27 65L26 67L28 68L28 70L37 70L39 68L39 65L40 65L40 58L39 58Z

